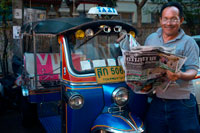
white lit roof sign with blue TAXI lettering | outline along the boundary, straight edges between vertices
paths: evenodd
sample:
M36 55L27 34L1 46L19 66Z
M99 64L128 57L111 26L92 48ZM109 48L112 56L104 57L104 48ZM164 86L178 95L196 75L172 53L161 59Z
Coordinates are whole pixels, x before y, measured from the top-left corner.
M88 11L92 15L118 15L117 10L111 7L92 7Z

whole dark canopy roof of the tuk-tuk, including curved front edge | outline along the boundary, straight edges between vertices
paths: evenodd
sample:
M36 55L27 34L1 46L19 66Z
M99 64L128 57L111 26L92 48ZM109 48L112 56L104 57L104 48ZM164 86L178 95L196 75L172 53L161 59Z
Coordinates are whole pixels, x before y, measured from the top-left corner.
M89 24L90 27L96 26L97 24L122 24L125 27L128 26L129 29L134 30L134 32L137 35L137 30L132 27L132 25L129 25L127 23L121 22L120 20L94 20L91 18L86 17L67 17L67 18L57 18L57 19L47 19L43 21L36 21L33 23L27 23L22 26L21 33L28 33L31 34L31 29L34 30L36 34L52 34L52 35L58 35L64 32L67 32L72 29L76 29L77 27L81 27L83 24ZM32 28L31 28L32 27Z

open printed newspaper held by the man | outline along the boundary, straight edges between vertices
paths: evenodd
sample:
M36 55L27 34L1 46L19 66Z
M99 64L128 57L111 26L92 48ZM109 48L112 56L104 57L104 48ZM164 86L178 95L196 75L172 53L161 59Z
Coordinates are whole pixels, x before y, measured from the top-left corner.
M126 83L136 93L147 94L158 87L166 91L171 83L166 70L178 72L186 60L174 54L175 48L141 46L130 35L120 42L120 47L123 58L119 61Z

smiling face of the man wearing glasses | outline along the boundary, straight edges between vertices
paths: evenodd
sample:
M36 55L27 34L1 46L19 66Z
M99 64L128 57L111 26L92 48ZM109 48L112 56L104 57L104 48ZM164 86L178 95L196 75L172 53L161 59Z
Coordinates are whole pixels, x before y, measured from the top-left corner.
M178 35L178 30L183 22L183 18L179 17L179 10L176 7L167 7L162 12L160 24L163 29L163 34L166 36Z

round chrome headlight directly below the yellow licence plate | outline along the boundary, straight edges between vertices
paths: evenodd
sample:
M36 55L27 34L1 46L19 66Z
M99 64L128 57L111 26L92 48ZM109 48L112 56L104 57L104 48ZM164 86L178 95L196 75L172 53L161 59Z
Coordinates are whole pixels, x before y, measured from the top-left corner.
M129 99L128 89L125 87L119 87L112 93L114 102L119 106L125 106Z

